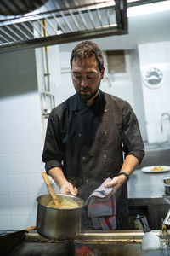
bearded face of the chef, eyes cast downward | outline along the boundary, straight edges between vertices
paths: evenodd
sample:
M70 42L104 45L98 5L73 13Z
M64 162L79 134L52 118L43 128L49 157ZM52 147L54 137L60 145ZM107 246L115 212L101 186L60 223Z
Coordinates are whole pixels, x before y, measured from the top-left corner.
M100 80L105 68L99 71L95 56L84 61L72 61L72 82L77 93L86 101L92 99L99 91Z

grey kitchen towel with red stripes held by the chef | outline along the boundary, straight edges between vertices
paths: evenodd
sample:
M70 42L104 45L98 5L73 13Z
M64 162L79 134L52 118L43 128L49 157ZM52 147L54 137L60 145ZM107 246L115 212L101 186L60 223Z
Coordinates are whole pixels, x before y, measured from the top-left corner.
M88 197L88 217L92 219L94 230L116 230L116 200L115 195L107 200L112 188L105 188L105 183L111 182L108 177L92 195ZM103 200L102 200L103 199Z

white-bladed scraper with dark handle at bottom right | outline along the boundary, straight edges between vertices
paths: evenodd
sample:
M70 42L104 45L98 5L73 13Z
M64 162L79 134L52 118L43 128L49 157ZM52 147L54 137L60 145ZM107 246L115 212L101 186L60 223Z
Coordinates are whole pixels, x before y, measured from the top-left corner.
M143 250L158 250L161 248L161 239L151 232L145 216L140 216L139 220L143 226L144 236L142 239Z

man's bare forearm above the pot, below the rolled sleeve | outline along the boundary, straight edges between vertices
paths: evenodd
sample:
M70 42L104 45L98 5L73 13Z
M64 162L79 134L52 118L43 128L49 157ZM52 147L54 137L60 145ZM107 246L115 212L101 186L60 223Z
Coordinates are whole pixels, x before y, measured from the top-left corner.
M66 182L63 170L59 166L50 169L48 174L54 179L54 182L58 184L59 189Z

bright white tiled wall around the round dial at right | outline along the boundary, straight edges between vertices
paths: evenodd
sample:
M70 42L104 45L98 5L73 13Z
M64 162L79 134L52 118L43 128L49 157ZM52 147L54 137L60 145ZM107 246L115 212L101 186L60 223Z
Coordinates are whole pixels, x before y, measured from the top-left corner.
M139 45L139 62L142 75L150 67L156 67L163 73L161 87L150 89L142 80L144 94L144 112L149 143L166 142L170 134L170 121L161 132L161 113L170 114L170 42L159 42Z

